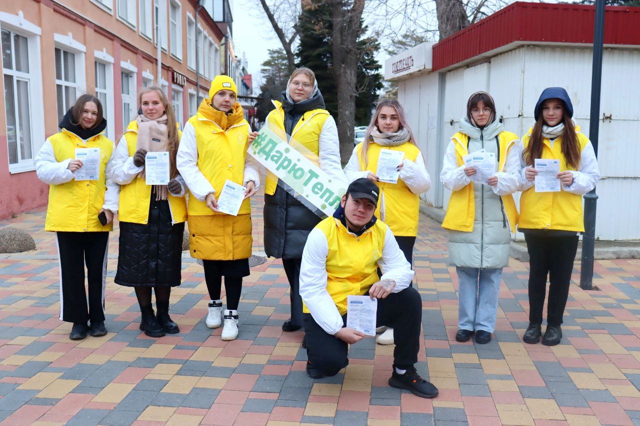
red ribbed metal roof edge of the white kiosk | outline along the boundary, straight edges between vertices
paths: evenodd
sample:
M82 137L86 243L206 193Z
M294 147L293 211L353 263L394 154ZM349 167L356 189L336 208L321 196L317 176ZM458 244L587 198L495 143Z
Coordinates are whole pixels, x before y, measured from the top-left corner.
M595 6L509 4L493 15L433 45L433 70L493 51L510 43L593 43ZM607 6L605 45L640 45L640 8Z

